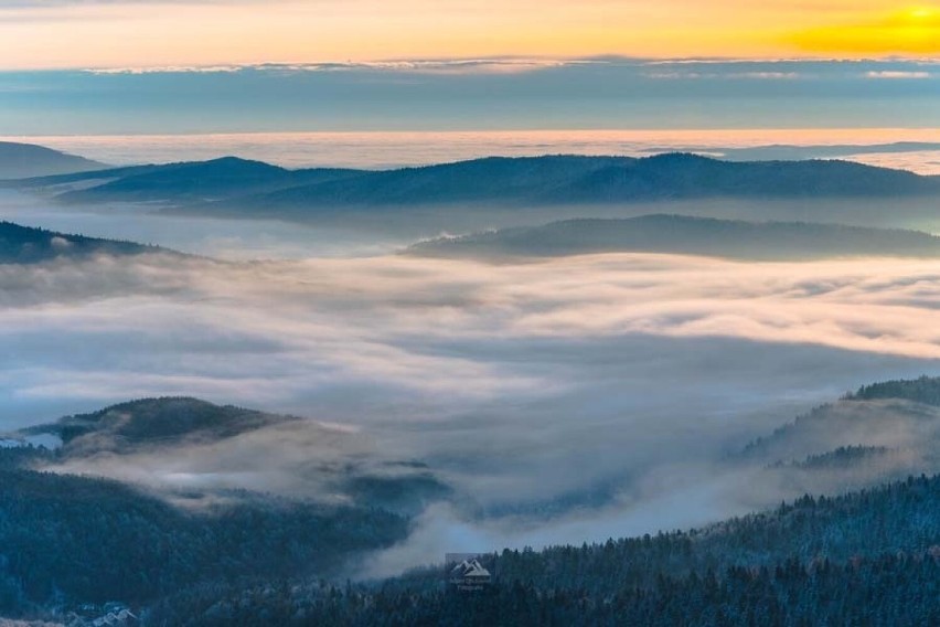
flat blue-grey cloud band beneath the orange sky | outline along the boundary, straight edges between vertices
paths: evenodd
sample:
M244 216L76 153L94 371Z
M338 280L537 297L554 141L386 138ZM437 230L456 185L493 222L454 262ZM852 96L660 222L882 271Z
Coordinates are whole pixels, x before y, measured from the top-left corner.
M940 110L932 81L873 81L870 72L930 68L478 57L8 72L0 73L0 132L468 131L527 129L533 119L592 129L894 128L901 118L931 126ZM873 98L884 106L870 107Z

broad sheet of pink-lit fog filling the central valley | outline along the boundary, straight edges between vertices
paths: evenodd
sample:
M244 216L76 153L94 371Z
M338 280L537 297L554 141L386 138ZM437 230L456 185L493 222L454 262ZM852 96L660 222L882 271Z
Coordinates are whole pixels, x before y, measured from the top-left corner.
M264 229L231 224L246 249L264 247ZM330 468L424 461L456 498L376 555L365 572L377 575L447 551L697 525L836 487L729 459L847 390L940 365L940 262L284 258L307 236L289 231L268 261L0 266L0 431L191 395L308 421L58 470L330 499Z

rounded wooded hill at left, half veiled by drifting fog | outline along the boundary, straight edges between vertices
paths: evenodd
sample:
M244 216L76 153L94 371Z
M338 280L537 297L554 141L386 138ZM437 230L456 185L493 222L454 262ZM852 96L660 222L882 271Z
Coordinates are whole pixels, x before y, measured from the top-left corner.
M248 483L285 497L368 503L398 514L416 514L451 492L420 461L376 455L359 463L331 455L361 446L355 436L316 421L192 397L129 401L11 435L20 442L52 437L61 443L56 464L49 466L56 471L81 469L120 479L141 464L157 464L194 479L202 476L201 482L151 481L173 498L188 489L192 504L212 501L249 476L256 479ZM281 457L268 459L271 454Z

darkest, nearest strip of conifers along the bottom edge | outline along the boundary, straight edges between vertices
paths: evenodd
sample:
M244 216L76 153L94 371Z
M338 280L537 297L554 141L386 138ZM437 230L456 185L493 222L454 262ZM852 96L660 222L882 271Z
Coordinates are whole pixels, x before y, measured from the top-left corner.
M220 591L216 591L220 592ZM940 625L940 555L882 555L847 564L795 559L775 567L733 566L658 578L650 588L623 587L599 597L575 588L542 589L519 580L479 594L363 594L317 588L298 594L265 586L206 602L183 595L147 615L147 625L252 626L463 626L548 627L598 625L870 627Z

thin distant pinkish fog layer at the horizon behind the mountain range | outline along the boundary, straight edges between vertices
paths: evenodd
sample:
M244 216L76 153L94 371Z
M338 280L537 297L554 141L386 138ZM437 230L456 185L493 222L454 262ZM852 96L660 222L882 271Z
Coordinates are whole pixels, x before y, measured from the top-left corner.
M41 144L115 166L237 155L286 168L384 169L492 156L645 157L693 151L735 160L841 158L940 174L940 134L930 128L43 135L2 139Z

